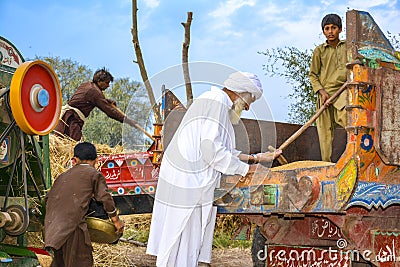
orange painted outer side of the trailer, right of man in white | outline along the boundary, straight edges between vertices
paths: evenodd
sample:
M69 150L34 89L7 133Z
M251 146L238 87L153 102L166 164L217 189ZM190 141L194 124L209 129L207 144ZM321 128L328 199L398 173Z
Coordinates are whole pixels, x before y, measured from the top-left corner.
M400 266L400 60L367 12L348 11L346 24L347 142L337 162L271 168L261 185L239 181L219 207L259 226L255 262Z

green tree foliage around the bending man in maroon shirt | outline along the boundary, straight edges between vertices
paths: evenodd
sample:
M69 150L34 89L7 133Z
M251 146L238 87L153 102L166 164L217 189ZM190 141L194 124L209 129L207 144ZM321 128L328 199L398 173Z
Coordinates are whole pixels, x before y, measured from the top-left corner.
M35 59L43 60L53 67L60 81L64 104L71 99L81 83L91 80L94 73L89 67L71 59L61 59L60 57L36 57ZM128 115L136 120L139 125L145 125L150 112L150 104L146 90L140 83L129 81L128 78L115 78L110 88L104 91L104 94L106 98L115 100L118 108L123 112L128 105L134 105L134 108L130 108L130 110L134 110L134 112L131 112L133 114ZM121 144L122 126L122 123L108 118L100 109L95 108L85 121L83 136L87 141L108 144L113 147ZM143 134L134 128L131 129L132 131L128 133L131 135L129 138L144 143Z

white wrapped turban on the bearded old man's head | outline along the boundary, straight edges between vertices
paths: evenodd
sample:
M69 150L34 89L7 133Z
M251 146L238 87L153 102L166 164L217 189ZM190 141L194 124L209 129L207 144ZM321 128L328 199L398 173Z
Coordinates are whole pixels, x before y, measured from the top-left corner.
M262 96L262 86L257 75L250 72L234 72L224 82L227 89L236 93L251 93L256 99Z

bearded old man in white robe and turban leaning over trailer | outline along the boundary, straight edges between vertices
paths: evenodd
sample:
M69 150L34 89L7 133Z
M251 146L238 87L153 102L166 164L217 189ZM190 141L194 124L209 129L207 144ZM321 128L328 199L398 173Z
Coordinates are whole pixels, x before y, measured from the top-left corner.
M164 152L161 163L147 253L157 266L196 267L210 263L217 209L214 190L221 174L254 173L274 155L243 155L235 150L232 123L262 95L258 77L235 72L224 88L211 87L187 110Z

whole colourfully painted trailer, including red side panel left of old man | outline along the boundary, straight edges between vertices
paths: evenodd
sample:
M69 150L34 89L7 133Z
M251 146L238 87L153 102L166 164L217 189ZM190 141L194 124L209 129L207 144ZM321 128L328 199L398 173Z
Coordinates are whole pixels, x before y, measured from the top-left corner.
M241 214L258 225L255 266L400 266L399 54L369 13L348 11L346 24L348 125L337 129L335 163L319 161L317 132L310 127L284 150L291 163L274 163L258 179L224 176L216 192L219 214ZM164 98L165 148L184 108L171 92ZM238 143L248 148L238 149L265 151L299 128L243 119L236 140L246 139ZM275 136L269 131L276 131L277 140L268 140ZM150 151L103 159L102 171L123 213L151 211L148 193L157 181L151 162L159 163L152 156Z

